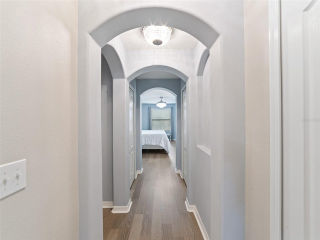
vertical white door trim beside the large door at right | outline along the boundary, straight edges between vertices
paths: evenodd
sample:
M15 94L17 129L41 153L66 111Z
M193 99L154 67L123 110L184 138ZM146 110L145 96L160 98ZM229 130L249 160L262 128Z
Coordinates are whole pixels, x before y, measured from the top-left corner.
M280 1L269 0L270 239L281 239L281 44Z

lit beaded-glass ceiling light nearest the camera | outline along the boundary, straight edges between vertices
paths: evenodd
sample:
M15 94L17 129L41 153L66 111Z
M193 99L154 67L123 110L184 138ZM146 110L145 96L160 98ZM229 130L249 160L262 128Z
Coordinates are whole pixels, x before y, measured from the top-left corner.
M142 33L150 45L163 46L170 39L172 28L168 26L144 26Z

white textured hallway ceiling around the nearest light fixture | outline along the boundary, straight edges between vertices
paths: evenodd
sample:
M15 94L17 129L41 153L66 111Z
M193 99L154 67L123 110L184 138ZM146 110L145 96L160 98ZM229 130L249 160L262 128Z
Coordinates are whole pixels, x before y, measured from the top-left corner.
M123 42L124 48L127 50L137 49L156 49L146 42L141 31L142 27L134 28L121 33L120 39ZM173 32L170 40L164 46L159 46L159 49L193 49L198 40L185 31L172 28Z

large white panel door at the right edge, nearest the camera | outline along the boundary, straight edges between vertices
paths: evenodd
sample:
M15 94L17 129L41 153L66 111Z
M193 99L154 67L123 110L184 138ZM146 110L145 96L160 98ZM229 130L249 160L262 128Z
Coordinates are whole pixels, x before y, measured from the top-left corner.
M320 2L281 1L282 239L320 239Z

